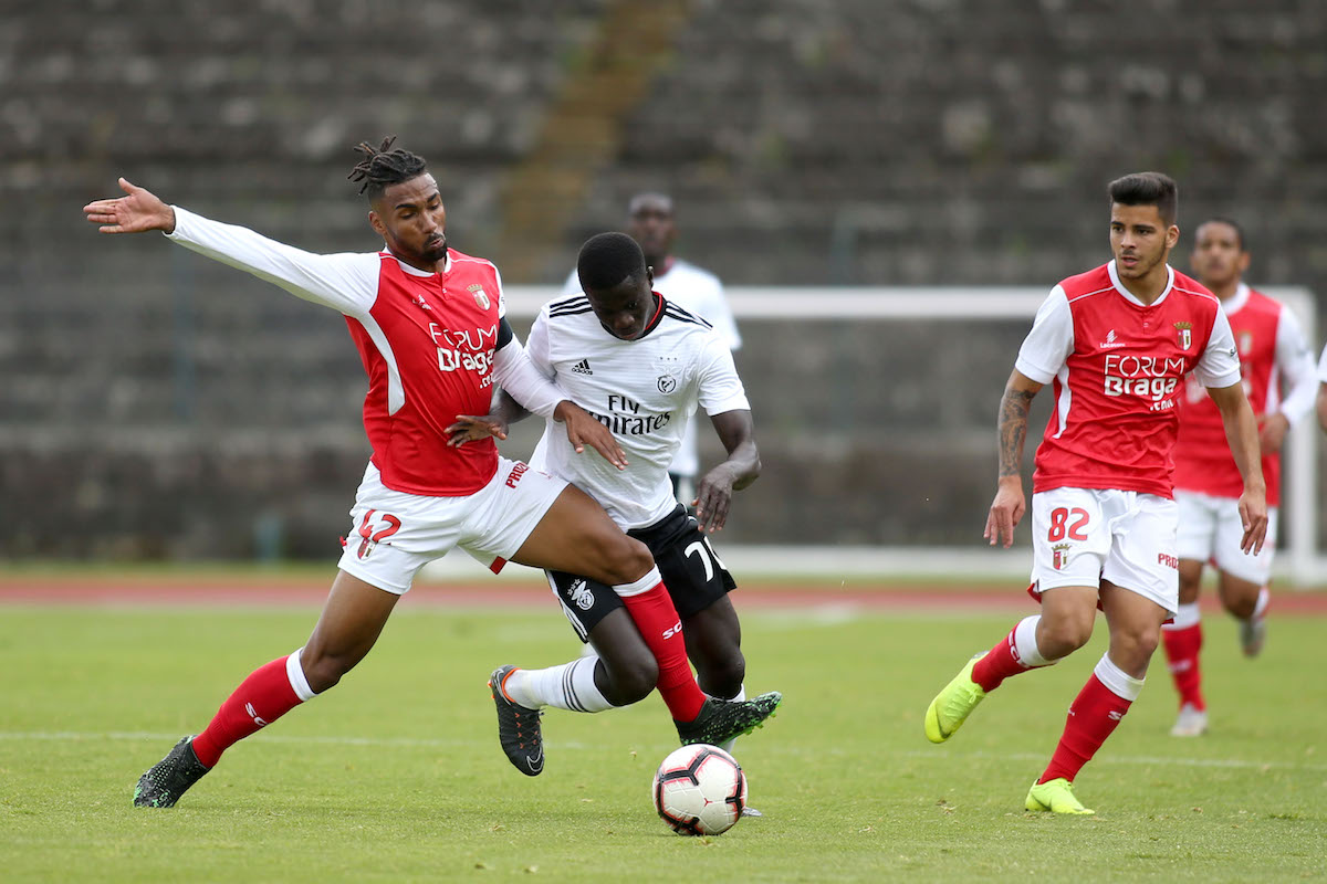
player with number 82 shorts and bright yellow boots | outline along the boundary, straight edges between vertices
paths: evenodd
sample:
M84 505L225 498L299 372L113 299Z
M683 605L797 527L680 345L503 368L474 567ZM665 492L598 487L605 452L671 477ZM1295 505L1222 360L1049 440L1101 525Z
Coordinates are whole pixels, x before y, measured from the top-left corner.
M1087 644L1096 611L1111 644L1070 706L1030 811L1091 814L1072 783L1137 698L1160 627L1178 607L1170 451L1176 400L1194 371L1221 411L1243 476L1241 549L1267 529L1258 425L1239 383L1221 304L1166 264L1180 239L1178 192L1157 172L1111 182L1109 264L1051 290L1001 399L999 489L985 537L1006 549L1026 512L1020 463L1032 396L1054 383L1055 410L1032 474L1032 586L1042 612L977 655L926 709L943 742L987 693Z

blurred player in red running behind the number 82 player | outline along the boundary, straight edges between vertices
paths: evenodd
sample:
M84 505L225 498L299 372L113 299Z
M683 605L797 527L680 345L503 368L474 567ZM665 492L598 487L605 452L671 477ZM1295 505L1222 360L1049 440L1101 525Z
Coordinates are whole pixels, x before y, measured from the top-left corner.
M1208 391L1189 375L1180 399L1174 447L1174 502L1180 508L1180 610L1161 627L1170 676L1180 692L1180 714L1170 734L1197 737L1208 729L1198 652L1202 623L1198 590L1204 565L1217 567L1221 603L1239 620L1246 656L1266 637L1267 580L1281 505L1281 445L1290 427L1312 411L1314 358L1295 314L1243 282L1250 254L1239 225L1223 217L1198 227L1189 258L1198 281L1221 301L1239 350L1245 395L1261 427L1262 476L1267 482L1267 542L1257 555L1239 550L1243 481Z

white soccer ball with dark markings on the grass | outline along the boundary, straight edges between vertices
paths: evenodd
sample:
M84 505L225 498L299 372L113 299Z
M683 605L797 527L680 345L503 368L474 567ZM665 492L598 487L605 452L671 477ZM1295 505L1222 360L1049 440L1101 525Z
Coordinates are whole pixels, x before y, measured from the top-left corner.
M654 774L654 810L678 835L719 835L742 819L746 774L718 746L682 746Z

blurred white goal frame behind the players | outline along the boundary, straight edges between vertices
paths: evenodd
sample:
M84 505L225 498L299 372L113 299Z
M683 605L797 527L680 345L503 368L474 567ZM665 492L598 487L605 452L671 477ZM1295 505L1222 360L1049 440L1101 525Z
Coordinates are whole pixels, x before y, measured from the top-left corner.
M1048 288L977 288L977 286L861 286L861 288L772 288L772 286L733 286L727 289L733 313L750 342L752 335L762 335L790 323L841 325L849 329L855 325L872 322L925 323L918 326L918 334L934 334L946 323L962 322L965 335L981 323L1011 323L1026 333L1036 309L1046 300ZM1316 310L1312 294L1303 288L1265 288L1269 296L1282 301L1295 311L1304 334L1311 342L1318 341ZM506 290L507 313L518 322L518 327L528 327L539 309L557 297L555 286L510 286ZM977 323L974 326L974 323ZM940 334L943 334L941 331ZM821 345L823 346L823 345ZM936 347L953 347L953 341L936 342ZM1016 346L1016 345L1015 345ZM1014 363L1013 349L1003 354L1005 362L997 368L1001 379ZM997 370L989 364L974 364L971 371L989 375ZM767 375L744 375L748 390L756 390L763 383L778 383ZM881 383L884 379L878 379ZM836 383L828 376L825 383ZM990 439L994 461L994 411L990 403ZM762 433L778 432L759 423ZM900 432L906 425L898 427ZM1034 440L1028 440L1031 447ZM1318 444L1316 421L1311 417L1300 421L1286 441L1285 460L1287 481L1283 488L1282 526L1285 549L1277 559L1278 577L1296 586L1327 583L1327 557L1318 549ZM990 481L994 488L994 478ZM864 578L864 577L1011 577L1026 575L1030 555L1019 555L1019 550L993 550L981 542L979 513L965 513L967 521L975 521L978 527L974 542L967 546L954 543L928 546L910 542L892 545L888 538L882 543L839 543L836 541L813 545L788 542L770 543L748 542L743 545L726 543L722 554L733 570L748 577L820 575L824 579ZM1026 550L1024 550L1026 551ZM464 557L449 557L431 566L434 577L464 573Z

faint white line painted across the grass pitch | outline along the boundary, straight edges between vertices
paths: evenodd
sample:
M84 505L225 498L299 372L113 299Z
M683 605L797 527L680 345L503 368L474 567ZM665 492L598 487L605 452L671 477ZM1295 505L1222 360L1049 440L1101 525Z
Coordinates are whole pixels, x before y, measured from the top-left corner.
M161 744L174 744L179 740L178 733L149 733L149 732L135 732L135 730L111 730L106 733L92 733L92 732L74 732L74 730L0 730L0 742L49 742L49 741L64 741L64 742L80 742L80 741L105 741L105 740L123 740L123 741L151 741ZM320 745L320 746L374 746L374 747L398 747L398 749L474 749L474 750L487 750L492 749L491 741L476 741L476 740L438 740L438 738L417 738L417 737L292 737L283 734L263 734L260 737L263 742L275 742L281 745ZM565 749L571 751L596 751L602 753L604 746L601 744L583 744L583 742L560 742L549 741L549 745L556 749ZM658 746L665 746L670 744L658 744ZM654 744L649 744L642 747L654 747ZM799 749L796 746L766 746L762 751L772 751L774 754L783 755L804 755L815 751L816 754L828 755L844 755L843 750L837 749ZM987 753L987 751L970 751L970 753L954 753L954 751L926 751L926 750L904 750L892 753L897 758L909 759L936 759L936 761L997 761L997 762L1044 762L1044 754L1024 753L1024 751L1011 751L1011 753ZM1229 770L1304 770L1304 771L1327 771L1327 763L1302 763L1302 762L1289 762L1289 761L1251 761L1247 758L1166 758L1160 755L1100 755L1092 759L1093 765L1125 765L1135 767L1154 767L1154 766L1170 766L1170 767L1217 767Z

